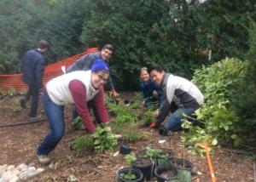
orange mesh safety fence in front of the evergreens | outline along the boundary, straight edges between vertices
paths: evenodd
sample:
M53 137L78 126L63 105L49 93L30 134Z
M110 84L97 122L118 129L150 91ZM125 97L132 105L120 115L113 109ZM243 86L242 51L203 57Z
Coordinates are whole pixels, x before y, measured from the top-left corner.
M85 54L94 53L99 51L98 48L87 48L84 53L74 55L73 57L67 58L65 60L59 60L53 64L45 66L43 82L49 82L50 79L60 76L62 74L61 66L65 65L67 68L72 65L74 61L78 60ZM21 74L0 74L0 93L5 94L15 94L26 92L26 83L22 81Z

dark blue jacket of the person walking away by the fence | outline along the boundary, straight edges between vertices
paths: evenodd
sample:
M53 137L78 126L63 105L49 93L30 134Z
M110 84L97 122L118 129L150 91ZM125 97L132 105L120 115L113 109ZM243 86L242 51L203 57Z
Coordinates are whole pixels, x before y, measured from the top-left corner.
M42 78L44 75L45 61L43 54L38 49L26 51L21 59L20 70L22 72L23 81L28 85L42 88Z

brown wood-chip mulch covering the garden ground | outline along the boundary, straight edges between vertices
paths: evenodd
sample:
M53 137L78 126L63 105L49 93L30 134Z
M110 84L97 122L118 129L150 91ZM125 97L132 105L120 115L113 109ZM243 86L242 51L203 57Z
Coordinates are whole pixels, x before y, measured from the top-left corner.
M135 94L121 94L121 98L133 98ZM14 124L28 121L28 109L19 108L21 96L9 98L4 96L0 100L0 125ZM44 110L40 103L39 113L44 116ZM125 166L125 157L121 154L113 156L119 151L119 145L113 151L91 152L86 150L71 151L70 142L78 135L83 135L84 130L74 130L71 126L71 107L65 108L66 134L55 151L50 154L52 161L48 166L41 165L35 156L35 150L49 131L48 122L31 123L27 125L0 128L0 164L18 166L20 163L33 164L36 168L45 168L45 172L29 181L71 181L73 175L79 181L84 182L112 182L116 171ZM184 147L180 137L183 132L177 132L171 136L159 136L157 130L149 128L137 128L137 132L143 134L143 139L131 143L131 151L143 150L147 145L172 149L175 158L185 158L195 165L199 172L192 177L192 181L211 181L207 168L207 157L195 155ZM160 139L166 142L160 144ZM230 149L219 147L211 154L212 166L217 181L252 181L253 161L247 156L236 154ZM69 180L68 180L69 179Z

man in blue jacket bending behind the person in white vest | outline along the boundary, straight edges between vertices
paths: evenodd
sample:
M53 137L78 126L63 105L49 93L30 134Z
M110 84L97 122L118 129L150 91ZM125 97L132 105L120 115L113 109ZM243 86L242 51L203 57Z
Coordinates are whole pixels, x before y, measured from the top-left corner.
M66 72L69 73L72 71L88 71L91 69L91 67L94 65L97 59L102 59L108 64L108 59L111 58L112 54L113 54L113 45L105 44L102 48L102 51L84 55L82 58L74 62L73 65L68 66ZM110 83L111 93L113 95L113 98L117 98L119 94L115 91L115 88L113 87L113 81L111 77L109 77L109 83ZM90 103L90 107L93 108L93 104ZM96 114L96 111L93 110L93 112L96 117L96 122L98 122L99 118ZM74 108L73 119L75 119L76 117L79 117L79 113Z

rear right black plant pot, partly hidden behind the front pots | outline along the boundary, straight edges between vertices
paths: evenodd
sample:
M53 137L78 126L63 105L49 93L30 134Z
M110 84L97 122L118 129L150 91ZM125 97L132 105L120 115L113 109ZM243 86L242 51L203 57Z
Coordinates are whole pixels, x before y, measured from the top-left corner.
M191 172L192 175L195 175L197 173L194 164L183 158L173 158L172 165L175 166L178 171L188 170Z

